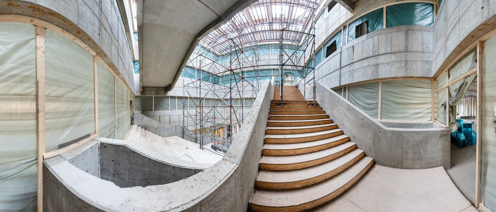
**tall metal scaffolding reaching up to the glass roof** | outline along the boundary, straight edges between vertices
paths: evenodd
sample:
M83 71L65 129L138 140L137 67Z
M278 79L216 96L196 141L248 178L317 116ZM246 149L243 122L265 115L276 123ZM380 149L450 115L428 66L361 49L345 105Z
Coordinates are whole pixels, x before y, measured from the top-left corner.
M307 79L315 35L305 31L317 7L313 0L259 0L203 38L186 64L194 69L184 71L195 80L183 84L183 135L225 153L264 81Z

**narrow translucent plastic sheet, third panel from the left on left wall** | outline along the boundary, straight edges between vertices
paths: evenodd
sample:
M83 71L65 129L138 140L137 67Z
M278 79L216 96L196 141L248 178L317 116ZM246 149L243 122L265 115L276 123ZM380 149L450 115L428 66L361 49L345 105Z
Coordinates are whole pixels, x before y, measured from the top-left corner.
M114 75L97 60L98 73L98 136L115 138L116 111Z

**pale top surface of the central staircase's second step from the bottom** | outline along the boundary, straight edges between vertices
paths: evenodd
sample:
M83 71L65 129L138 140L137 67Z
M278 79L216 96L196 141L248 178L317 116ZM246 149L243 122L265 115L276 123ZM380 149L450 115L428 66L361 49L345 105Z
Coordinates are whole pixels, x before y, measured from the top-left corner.
M343 155L335 160L329 161L327 163L310 167L302 170L291 170L291 171L268 171L261 170L258 174L256 180L263 182L295 182L305 179L310 179L312 177L316 177L327 173L329 171L335 170L346 164L349 161L352 161L354 158L362 155L364 153L361 149L355 149L350 153Z

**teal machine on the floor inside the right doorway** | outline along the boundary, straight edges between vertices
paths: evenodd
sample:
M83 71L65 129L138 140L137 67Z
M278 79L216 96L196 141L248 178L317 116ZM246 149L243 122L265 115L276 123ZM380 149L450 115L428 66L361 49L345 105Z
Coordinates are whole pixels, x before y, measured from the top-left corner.
M451 143L460 148L473 146L477 140L476 131L472 129L472 122L466 122L462 119L456 119L458 129L451 132Z

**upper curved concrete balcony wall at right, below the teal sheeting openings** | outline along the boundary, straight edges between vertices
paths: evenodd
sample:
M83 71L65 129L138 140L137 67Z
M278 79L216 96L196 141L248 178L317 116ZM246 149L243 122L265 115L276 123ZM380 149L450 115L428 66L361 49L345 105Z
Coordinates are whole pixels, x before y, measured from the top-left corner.
M432 30L406 25L369 33L325 58L316 67L315 79L336 87L385 78L432 77Z

